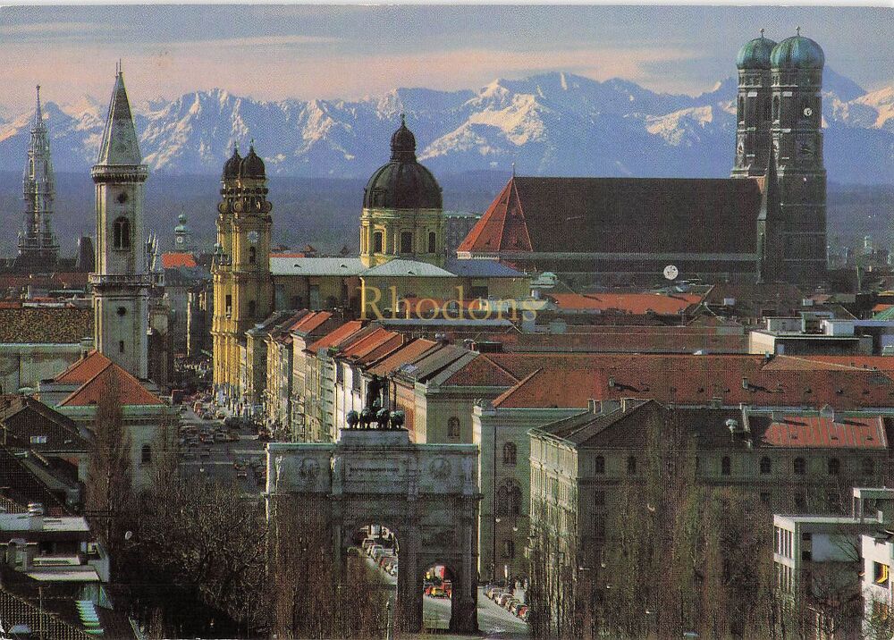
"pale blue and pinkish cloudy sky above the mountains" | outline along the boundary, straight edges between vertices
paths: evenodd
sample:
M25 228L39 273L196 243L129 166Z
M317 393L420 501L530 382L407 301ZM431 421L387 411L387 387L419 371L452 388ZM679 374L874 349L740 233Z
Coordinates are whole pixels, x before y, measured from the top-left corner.
M224 88L279 100L356 99L397 87L480 88L564 71L698 94L735 73L766 29L822 45L868 90L894 84L894 10L871 7L155 5L0 8L0 114L109 95Z

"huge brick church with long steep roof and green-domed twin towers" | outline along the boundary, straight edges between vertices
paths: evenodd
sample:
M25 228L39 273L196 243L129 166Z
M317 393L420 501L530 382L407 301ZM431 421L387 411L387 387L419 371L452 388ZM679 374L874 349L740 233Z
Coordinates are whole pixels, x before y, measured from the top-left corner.
M513 176L459 257L579 286L654 284L669 265L704 282L822 282L824 63L800 29L739 49L730 179Z

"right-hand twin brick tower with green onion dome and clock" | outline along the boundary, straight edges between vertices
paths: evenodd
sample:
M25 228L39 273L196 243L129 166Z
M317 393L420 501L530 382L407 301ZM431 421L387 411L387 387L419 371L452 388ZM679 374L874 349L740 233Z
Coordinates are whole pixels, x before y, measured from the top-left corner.
M781 279L826 275L826 170L822 164L822 48L797 29L773 47L772 146L779 175Z

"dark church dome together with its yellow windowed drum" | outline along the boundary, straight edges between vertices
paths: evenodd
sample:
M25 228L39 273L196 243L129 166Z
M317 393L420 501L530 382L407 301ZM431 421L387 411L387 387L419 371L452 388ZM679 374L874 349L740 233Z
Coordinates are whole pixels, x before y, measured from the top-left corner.
M363 192L360 259L381 265L394 258L444 263L441 187L416 159L416 137L401 114L392 135L391 161L379 167Z

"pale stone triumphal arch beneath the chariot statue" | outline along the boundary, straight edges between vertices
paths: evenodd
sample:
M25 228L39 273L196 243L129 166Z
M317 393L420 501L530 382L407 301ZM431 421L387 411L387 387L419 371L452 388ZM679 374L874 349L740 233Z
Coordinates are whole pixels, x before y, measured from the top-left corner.
M267 500L322 505L337 562L371 524L398 541L396 625L422 627L426 569L452 582L450 628L477 632L478 452L471 444L415 444L403 428L342 429L333 443L271 442Z

